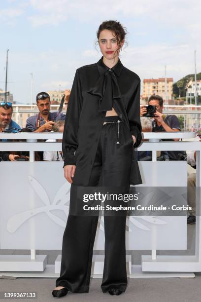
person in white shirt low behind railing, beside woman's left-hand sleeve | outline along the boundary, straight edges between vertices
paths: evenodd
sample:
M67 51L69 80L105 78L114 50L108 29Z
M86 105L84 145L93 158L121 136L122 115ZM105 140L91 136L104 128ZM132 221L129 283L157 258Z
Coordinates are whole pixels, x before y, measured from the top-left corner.
M59 120L55 122L52 128L52 132L64 132L64 120ZM55 139L46 140L46 142L56 142ZM57 142L62 142L62 140L57 140ZM44 151L43 152L44 161L63 161L62 151Z

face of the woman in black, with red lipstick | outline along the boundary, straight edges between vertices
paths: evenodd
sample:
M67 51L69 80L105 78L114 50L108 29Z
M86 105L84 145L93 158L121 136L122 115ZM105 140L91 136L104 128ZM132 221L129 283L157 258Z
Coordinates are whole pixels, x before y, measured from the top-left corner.
M124 40L120 43L120 45L121 47L124 45ZM103 30L100 32L99 46L102 55L106 59L111 60L114 57L119 56L120 49L116 51L119 47L118 41L112 31Z

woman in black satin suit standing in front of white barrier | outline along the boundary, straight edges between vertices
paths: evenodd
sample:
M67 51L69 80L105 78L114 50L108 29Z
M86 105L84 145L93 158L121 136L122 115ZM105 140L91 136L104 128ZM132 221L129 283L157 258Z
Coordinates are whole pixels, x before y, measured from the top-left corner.
M126 32L116 21L97 32L102 58L77 69L63 135L64 174L72 184L63 237L61 274L54 297L89 291L98 216L80 215L76 189L106 186L128 192L141 184L134 147L141 142L140 78L119 60ZM126 215L104 216L105 260L101 289L120 295L127 286Z

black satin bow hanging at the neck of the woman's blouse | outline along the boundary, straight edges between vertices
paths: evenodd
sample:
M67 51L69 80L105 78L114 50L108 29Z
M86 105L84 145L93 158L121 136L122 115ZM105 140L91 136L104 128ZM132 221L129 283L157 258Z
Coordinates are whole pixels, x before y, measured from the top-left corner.
M100 97L99 112L112 110L113 99L121 98L119 85L112 69L102 74L94 87L87 92Z

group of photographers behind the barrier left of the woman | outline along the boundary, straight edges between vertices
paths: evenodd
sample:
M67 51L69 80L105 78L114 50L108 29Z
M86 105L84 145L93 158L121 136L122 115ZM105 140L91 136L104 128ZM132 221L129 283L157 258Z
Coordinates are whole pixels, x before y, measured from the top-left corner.
M67 110L67 103L70 95L70 90L65 91L64 105ZM51 102L50 96L46 92L40 92L36 95L36 105L39 113L30 116L26 121L25 128L12 120L12 103L0 103L0 132L17 133L17 132L62 132L64 131L64 123L66 114L62 112L50 112ZM7 141L2 139L1 141ZM10 140L9 140L10 141ZM19 141L19 140L12 140ZM21 140L23 141L23 140ZM54 140L47 140L54 141ZM58 140L59 141L59 140ZM62 140L61 140L62 141ZM62 151L39 151L34 152L34 160L44 161L62 161ZM0 151L0 160L3 161L28 161L29 152L27 151Z

